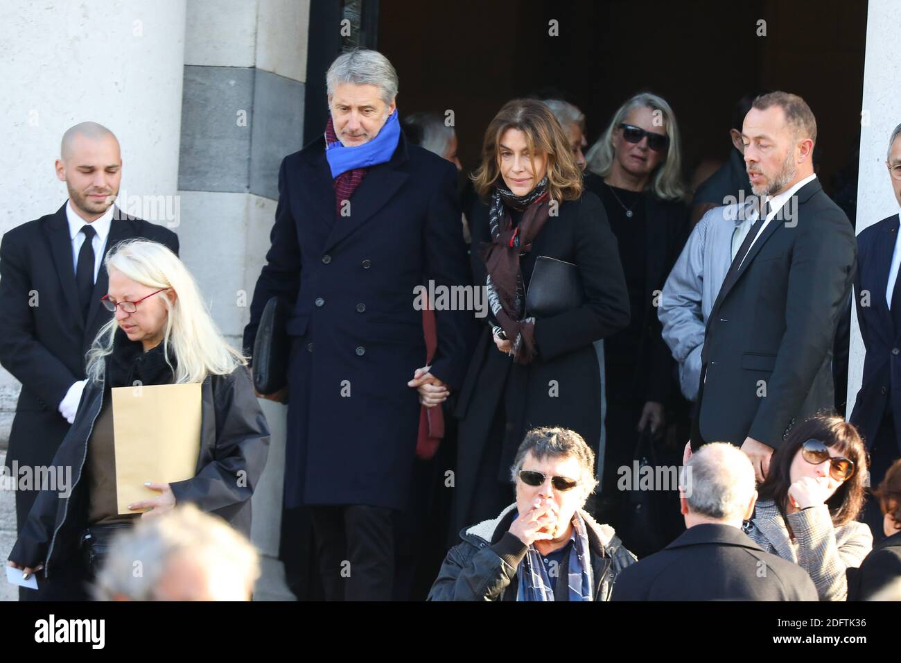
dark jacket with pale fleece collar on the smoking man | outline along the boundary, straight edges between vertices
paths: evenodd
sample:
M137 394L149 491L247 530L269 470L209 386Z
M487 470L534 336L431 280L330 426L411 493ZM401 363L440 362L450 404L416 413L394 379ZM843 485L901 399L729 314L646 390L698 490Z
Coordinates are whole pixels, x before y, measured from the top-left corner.
M623 547L612 527L598 524L586 511L579 514L587 524L596 580L594 600L609 601L616 576L635 562L635 556ZM461 531L463 541L444 557L428 600L515 601L516 567L526 550L522 541L509 534L515 517L516 505L511 504L497 518L483 520Z

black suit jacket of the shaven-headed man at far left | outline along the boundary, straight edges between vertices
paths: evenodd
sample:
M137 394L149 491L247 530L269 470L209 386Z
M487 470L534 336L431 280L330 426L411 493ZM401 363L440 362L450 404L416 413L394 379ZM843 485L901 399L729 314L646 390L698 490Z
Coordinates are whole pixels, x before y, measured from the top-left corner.
M108 251L114 244L144 237L178 252L178 238L168 228L116 209ZM85 377L85 354L100 327L113 314L100 304L109 288L101 264L88 309L81 318L68 235L66 206L5 233L0 243L0 364L22 382L9 437L6 465L50 465L68 422L59 401L73 382ZM18 495L19 526L33 493Z

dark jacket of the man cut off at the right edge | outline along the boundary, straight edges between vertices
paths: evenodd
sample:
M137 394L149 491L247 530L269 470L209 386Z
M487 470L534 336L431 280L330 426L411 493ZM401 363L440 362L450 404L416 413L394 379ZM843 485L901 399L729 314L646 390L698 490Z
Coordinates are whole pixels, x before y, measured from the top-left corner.
M895 328L886 302L888 272L897 234L898 216L893 214L864 229L857 238L854 301L867 354L851 423L858 428L868 447L876 440L887 406L895 420L901 421L901 355L896 354L901 347L901 329ZM891 399L890 403L887 403L888 399Z

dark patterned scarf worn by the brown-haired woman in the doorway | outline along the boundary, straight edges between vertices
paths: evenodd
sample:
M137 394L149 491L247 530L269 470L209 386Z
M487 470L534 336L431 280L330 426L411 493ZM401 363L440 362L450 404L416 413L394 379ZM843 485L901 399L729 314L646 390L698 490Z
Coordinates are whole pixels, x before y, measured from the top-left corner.
M480 246L487 269L491 313L497 326L512 342L512 354L517 364L529 364L537 354L535 318L523 319L525 286L519 259L532 250L532 240L548 220L548 203L547 176L524 196L516 196L498 178L488 209L491 242L483 242ZM523 211L523 218L516 226L508 208Z

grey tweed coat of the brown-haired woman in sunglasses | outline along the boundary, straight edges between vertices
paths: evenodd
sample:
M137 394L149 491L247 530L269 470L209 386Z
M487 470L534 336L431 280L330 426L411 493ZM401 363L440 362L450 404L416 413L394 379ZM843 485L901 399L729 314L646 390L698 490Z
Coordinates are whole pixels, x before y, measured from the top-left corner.
M829 507L811 507L787 517L790 539L776 502L761 500L744 532L760 548L794 562L810 574L820 601L844 601L848 596L845 569L860 566L873 548L873 534L862 522L833 527Z

